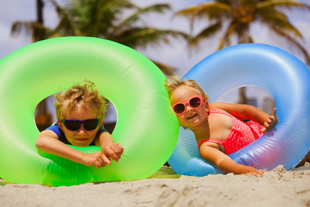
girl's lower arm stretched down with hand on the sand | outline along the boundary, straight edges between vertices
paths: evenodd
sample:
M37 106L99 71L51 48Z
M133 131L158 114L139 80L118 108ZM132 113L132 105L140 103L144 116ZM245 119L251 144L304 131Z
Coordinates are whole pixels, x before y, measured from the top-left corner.
M216 148L217 144L209 144L204 143L200 146L200 156L203 159L216 165L216 167L218 167L220 170L227 173L233 172L235 175L245 174L255 175L256 177L263 174L263 172L261 172L260 170L256 170L256 168L237 164L236 161L232 160L229 156L225 155L225 153L218 150L218 148Z

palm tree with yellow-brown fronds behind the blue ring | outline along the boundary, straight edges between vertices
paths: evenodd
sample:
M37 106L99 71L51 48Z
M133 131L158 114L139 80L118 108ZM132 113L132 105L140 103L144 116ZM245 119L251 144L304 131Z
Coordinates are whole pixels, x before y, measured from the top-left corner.
M194 28L196 19L207 18L210 22L210 25L189 39L191 48L218 33L221 35L218 50L231 46L231 41L234 38L238 43L253 43L250 26L257 22L268 27L278 36L287 39L302 52L307 64L310 65L309 54L298 41L298 39L302 39L302 34L291 24L284 12L284 9L291 10L293 8L310 10L310 6L304 3L289 0L216 0L186 8L176 12L176 15L188 17L191 30ZM240 88L239 103L246 102L245 88Z

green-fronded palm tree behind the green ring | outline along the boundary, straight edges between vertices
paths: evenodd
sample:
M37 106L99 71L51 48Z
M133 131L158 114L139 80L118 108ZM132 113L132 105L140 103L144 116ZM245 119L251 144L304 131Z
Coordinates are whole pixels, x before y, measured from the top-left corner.
M72 0L62 8L51 1L59 15L59 24L54 30L37 22L15 22L12 33L43 30L44 39L65 36L99 37L122 43L134 49L168 43L169 38L187 39L187 34L176 30L160 30L146 26L143 15L151 12L163 13L169 10L167 4L156 4L139 8L127 0ZM127 16L125 15L127 14ZM172 75L175 68L152 60L166 75Z

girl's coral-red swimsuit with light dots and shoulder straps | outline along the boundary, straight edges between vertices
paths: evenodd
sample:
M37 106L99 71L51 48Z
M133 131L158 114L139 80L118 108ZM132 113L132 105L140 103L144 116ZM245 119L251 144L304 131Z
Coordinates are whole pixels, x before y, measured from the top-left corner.
M237 117L220 110L209 110L209 113L220 113L231 117L231 132L225 141L220 141L218 139L205 139L200 141L198 146L203 142L211 141L216 144L223 145L225 148L225 154L229 155L230 153L251 144L259 137L262 137L262 135L265 135L265 133L262 132L262 128L264 128L264 126L255 121L244 122Z

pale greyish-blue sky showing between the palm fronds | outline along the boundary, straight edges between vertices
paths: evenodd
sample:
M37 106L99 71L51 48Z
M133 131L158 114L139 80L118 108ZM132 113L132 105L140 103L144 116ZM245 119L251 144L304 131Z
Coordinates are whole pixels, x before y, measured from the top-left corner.
M56 0L61 5L64 5L64 2ZM299 0L302 3L307 3L310 5L309 0ZM54 7L50 2L44 0L45 6L43 10L44 14L44 23L46 26L50 28L54 28L58 22L58 18L56 16L56 12L54 11ZM174 12L178 10L182 10L189 6L193 6L198 3L204 2L203 0L170 0L170 1L162 1L162 0L132 0L132 3L135 3L138 6L148 6L155 3L169 3L172 6L172 10L165 12L165 14L155 14L145 17L147 22L150 22L152 26L156 26L156 28L169 28L180 30L182 32L189 32L189 21L184 17L173 17ZM294 26L300 30L304 40L302 41L302 45L304 48L310 52L310 12L309 11L301 11L301 10L293 10L289 12L289 20L293 23ZM168 17L168 18L167 18ZM167 20L168 19L168 20ZM20 34L18 36L11 35L11 26L14 21L35 21L36 20L36 0L1 0L0 7L0 59L6 57L11 52L15 50L27 46L32 43L31 37L26 34ZM194 26L194 33L198 32L206 22L200 21L196 23ZM276 46L278 48L282 48L291 52L291 54L295 55L301 61L304 61L304 57L298 50L293 50L290 45L283 41L282 39L278 39L276 36L270 34L267 28L264 28L259 25L254 25L251 27L251 34L254 37L254 42L256 43L266 43L272 46ZM173 40L169 44L161 44L158 47L148 47L145 50L138 50L146 57L150 59L154 59L156 61L161 61L169 66L177 68L176 75L179 77L183 77L193 66L195 66L199 61L203 60L208 55L211 55L216 51L216 47L218 44L218 39L214 37L214 39L210 39L205 41L200 50L194 50L189 52L187 49L187 43L183 40ZM191 55L189 55L191 53ZM254 88L247 90L248 97L256 96L256 97L266 97L266 93L263 90ZM223 98L220 101L231 101L234 102L238 96L235 92L231 92L231 95L228 95L227 98ZM52 108L52 103L50 103L50 108ZM107 117L105 121L110 122L116 119L114 115L111 117Z

